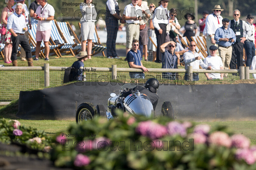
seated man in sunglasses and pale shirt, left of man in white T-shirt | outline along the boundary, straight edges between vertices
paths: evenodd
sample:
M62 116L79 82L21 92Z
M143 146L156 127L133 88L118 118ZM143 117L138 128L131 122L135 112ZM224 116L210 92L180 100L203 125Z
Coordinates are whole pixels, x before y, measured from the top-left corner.
M185 69L187 69L188 66L192 66L193 69L199 69L199 65L203 69L212 70L211 66L207 66L204 64L202 57L199 56L199 54L195 51L196 50L196 43L194 41L191 41L189 43L189 50L188 52L184 53L184 63L185 63ZM185 80L189 80L189 77L187 73L185 73ZM193 81L198 81L198 73L193 73Z

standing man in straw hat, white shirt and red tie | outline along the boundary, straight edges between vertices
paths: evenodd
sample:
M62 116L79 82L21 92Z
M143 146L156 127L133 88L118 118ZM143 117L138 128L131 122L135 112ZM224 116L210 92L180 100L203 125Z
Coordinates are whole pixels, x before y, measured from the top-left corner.
M224 9L221 9L220 5L215 5L212 9L212 13L208 15L208 17L205 20L205 32L206 32L206 44L207 44L207 51L208 54L210 52L209 47L212 45L217 46L214 35L218 28L222 27L222 16L220 16L221 12ZM216 53L217 56L219 56L219 52Z

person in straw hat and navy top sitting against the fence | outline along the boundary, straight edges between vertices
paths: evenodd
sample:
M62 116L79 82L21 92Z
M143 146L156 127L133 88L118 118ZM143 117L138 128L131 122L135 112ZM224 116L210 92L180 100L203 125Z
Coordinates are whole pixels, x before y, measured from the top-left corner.
M75 57L78 59L75 61L71 67L74 67L74 72L73 72L73 77L74 80L77 81L83 81L84 77L83 72L84 72L84 61L87 60L87 52L86 51L80 51Z

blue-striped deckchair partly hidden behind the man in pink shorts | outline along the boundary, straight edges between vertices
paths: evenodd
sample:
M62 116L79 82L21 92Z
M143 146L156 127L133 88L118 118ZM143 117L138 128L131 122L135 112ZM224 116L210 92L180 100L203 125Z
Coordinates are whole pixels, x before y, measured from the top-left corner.
M37 24L32 24L31 29L29 29L29 39L30 39L32 55L35 55L35 51L36 51L36 44L37 44L36 43L36 32L37 32ZM50 53L54 52L59 57L58 47L59 47L59 45L51 45L51 43L49 42ZM45 56L44 56L44 41L41 42L40 57L45 58Z

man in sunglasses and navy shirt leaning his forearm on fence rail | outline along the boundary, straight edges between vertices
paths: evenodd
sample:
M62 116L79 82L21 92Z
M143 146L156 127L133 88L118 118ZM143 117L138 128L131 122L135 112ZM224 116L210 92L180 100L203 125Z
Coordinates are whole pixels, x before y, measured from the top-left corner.
M143 70L143 73L140 72L130 72L130 77L131 78L140 78L144 79L145 74L144 72L148 72L148 69L143 66L141 63L141 53L139 48L139 41L137 39L134 39L132 42L132 49L127 53L126 59L129 64L130 68L136 68L136 69L141 69ZM138 77L137 77L138 76Z

